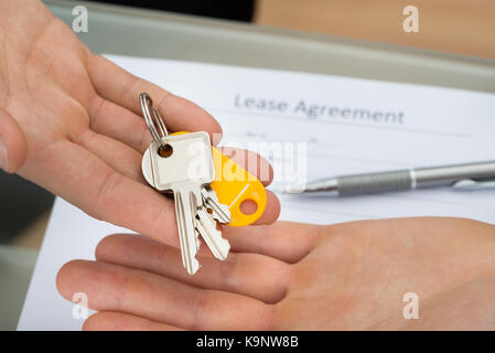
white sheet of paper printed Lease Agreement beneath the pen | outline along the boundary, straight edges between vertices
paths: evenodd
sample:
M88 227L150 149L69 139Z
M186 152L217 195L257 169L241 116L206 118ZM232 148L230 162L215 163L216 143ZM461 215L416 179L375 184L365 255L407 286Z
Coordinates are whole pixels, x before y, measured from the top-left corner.
M222 145L259 149L273 163L273 191L338 174L495 160L495 95L189 62L109 58L203 106L223 126ZM438 215L495 223L495 190L443 188L349 199L279 196L280 218L290 221L331 224ZM122 229L56 200L20 330L80 329L84 320L74 318L74 303L56 291L56 272L71 259L93 259L98 240L115 232Z

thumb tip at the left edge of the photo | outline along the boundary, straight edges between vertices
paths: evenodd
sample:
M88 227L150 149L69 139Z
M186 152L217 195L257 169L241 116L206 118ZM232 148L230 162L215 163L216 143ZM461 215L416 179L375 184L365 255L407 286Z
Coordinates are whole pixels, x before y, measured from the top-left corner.
M18 122L0 107L0 168L17 172L25 162L28 145Z

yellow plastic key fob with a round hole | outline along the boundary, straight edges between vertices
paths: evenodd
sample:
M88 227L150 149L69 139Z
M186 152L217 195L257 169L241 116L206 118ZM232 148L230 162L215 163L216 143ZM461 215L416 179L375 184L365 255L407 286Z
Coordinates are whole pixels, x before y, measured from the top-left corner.
M187 133L187 131L172 135ZM255 223L261 217L267 206L267 192L263 184L243 167L212 147L215 180L211 183L218 201L230 210L229 226L243 227ZM256 212L245 214L240 205L245 201L252 201L257 205Z

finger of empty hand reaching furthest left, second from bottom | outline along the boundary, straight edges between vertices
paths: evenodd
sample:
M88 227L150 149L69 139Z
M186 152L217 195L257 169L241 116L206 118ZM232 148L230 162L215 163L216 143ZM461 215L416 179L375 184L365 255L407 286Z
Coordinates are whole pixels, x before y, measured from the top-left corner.
M61 295L85 292L94 310L119 311L194 330L266 330L273 307L240 295L194 288L100 261L71 261L57 276Z

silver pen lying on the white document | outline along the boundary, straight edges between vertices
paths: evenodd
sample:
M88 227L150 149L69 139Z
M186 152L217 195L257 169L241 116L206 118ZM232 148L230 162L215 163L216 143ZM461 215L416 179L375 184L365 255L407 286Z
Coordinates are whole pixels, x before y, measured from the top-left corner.
M337 196L438 186L455 190L495 188L495 161L343 175L289 186L284 193L325 192Z

